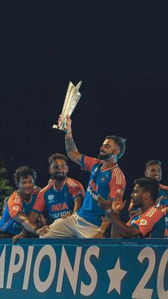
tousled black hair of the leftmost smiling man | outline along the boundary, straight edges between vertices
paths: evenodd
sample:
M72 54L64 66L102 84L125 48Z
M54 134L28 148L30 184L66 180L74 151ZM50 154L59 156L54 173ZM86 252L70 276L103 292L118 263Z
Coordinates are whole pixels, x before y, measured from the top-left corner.
M37 178L37 173L28 166L21 166L17 168L14 173L14 182L16 183L16 186L19 184L21 178L28 178L28 176L32 176L35 182Z

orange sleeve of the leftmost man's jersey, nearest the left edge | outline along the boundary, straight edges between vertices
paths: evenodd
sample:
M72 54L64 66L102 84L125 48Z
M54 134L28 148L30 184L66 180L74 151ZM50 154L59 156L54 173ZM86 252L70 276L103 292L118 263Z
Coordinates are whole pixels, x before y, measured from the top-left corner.
M23 204L21 201L21 197L18 193L14 192L8 201L8 207L9 207L9 214L11 218L14 218L17 213L23 212Z

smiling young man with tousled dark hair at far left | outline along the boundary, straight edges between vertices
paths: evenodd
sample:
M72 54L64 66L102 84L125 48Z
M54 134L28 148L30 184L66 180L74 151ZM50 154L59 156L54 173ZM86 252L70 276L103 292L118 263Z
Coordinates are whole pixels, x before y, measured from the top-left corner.
M36 171L28 166L16 169L14 182L17 191L11 194L0 220L0 238L12 238L21 233L23 227L33 233L35 225L27 219L41 188L35 186Z

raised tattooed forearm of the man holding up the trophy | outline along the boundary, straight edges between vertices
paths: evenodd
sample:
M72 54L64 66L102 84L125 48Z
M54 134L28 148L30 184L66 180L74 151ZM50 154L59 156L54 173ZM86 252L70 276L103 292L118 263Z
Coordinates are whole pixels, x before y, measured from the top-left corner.
M65 135L65 148L70 160L78 163L81 166L81 153L78 152L78 148L75 146L73 141L72 132Z

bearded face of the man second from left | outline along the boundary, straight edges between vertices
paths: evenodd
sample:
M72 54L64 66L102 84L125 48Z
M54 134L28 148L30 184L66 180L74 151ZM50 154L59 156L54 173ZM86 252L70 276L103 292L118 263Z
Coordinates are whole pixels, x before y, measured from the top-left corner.
M56 159L51 163L49 170L51 173L51 178L62 181L67 177L68 166L65 160Z

